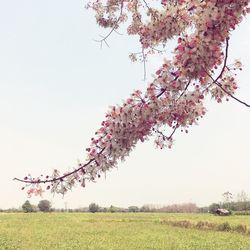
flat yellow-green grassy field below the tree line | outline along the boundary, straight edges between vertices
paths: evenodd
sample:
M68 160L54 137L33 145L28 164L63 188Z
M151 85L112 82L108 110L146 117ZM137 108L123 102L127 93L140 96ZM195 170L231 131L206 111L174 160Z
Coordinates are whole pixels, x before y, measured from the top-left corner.
M0 213L4 249L249 250L250 216Z

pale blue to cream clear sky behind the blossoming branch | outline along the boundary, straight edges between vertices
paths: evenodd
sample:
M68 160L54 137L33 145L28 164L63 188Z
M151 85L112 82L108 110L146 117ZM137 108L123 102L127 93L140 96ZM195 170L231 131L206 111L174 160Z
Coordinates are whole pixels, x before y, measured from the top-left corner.
M84 160L85 148L109 105L144 88L161 64L133 64L136 38L113 34L110 48L94 39L100 30L79 0L0 0L0 208L27 198L13 177L67 170ZM229 61L240 58L237 96L250 102L250 20L230 40ZM167 54L170 55L169 53ZM63 199L46 193L55 207L130 206L195 202L207 205L244 190L250 195L250 109L231 100L208 102L208 113L171 150L139 143L124 163L97 183ZM41 198L32 198L34 204Z

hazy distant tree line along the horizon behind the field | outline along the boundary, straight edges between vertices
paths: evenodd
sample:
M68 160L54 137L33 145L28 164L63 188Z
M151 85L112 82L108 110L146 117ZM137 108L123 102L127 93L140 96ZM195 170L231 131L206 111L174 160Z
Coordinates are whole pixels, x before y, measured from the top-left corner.
M159 206L147 204L141 207L129 206L127 208L111 205L109 207L101 207L97 203L92 202L88 207L67 209L67 208L52 208L51 202L41 200L37 205L33 205L29 200L26 200L21 208L0 209L0 212L69 212L69 213L213 213L218 209L227 209L230 213L250 215L250 198L244 192L240 192L233 198L230 192L225 192L222 195L222 201L212 203L206 207L198 207L195 203L171 204L167 206Z

